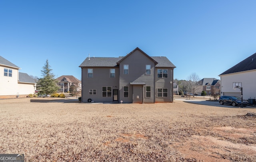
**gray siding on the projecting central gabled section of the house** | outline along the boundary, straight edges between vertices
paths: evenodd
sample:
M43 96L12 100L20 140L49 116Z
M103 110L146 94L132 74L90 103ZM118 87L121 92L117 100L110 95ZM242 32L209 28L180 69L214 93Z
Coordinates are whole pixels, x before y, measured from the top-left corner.
M129 74L124 74L124 64L129 65ZM146 65L151 65L150 74L146 74ZM155 64L154 62L144 55L139 50L134 51L127 58L120 62L120 100L124 103L133 102L133 86L135 88L140 87L138 85L131 85L130 82L143 82L146 85L141 85L142 87L142 100L144 103L154 103L154 71ZM129 97L124 98L124 86L129 86ZM151 86L152 93L150 98L146 98L145 86ZM135 91L136 92L136 91ZM136 96L135 96L136 97Z

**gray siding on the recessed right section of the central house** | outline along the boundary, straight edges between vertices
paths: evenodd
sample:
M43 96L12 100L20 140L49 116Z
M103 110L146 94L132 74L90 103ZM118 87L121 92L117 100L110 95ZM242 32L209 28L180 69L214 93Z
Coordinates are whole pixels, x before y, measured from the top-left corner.
M158 69L168 69L168 78L158 78L157 70ZM173 102L173 68L156 68L156 102ZM167 97L158 97L157 89L158 88L167 88L168 94Z

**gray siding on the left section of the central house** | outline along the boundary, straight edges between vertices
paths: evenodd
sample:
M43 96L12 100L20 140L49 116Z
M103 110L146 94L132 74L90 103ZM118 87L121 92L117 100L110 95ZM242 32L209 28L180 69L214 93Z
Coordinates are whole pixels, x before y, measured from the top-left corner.
M119 68L100 67L93 68L93 78L88 78L88 68L82 68L82 102L92 99L94 102L113 102L113 89L119 89ZM116 69L115 78L110 78L110 69ZM112 87L111 97L102 97L102 86ZM96 95L90 95L89 90L96 90Z

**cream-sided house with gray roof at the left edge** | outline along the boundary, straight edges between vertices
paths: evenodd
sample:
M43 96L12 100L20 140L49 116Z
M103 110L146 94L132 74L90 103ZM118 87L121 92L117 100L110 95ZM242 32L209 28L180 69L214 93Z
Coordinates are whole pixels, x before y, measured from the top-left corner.
M36 82L20 68L0 56L0 98L26 97L34 94Z

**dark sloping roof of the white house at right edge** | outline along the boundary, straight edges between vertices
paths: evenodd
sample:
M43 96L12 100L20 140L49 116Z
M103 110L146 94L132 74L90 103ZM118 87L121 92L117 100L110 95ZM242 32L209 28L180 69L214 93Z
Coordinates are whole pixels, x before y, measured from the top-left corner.
M244 71L255 70L255 69L256 69L256 53L242 60L241 62L239 62L232 68L226 70L225 72L221 73L220 75L231 74L235 72L244 72Z

